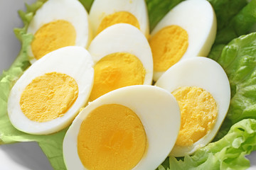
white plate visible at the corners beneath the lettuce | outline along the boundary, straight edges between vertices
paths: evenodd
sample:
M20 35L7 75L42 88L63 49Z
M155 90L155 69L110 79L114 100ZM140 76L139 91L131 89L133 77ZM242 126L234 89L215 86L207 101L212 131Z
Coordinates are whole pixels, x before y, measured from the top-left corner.
M17 11L25 10L24 2L31 4L36 0L0 0L0 72L9 69L21 48L13 28L22 27ZM250 170L256 169L256 152L248 158ZM0 145L1 170L51 170L48 159L36 142L23 142L11 145Z

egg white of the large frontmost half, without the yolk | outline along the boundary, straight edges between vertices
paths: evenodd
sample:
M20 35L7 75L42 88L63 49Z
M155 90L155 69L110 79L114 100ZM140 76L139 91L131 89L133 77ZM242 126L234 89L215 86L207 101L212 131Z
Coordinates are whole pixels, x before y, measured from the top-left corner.
M127 86L107 93L81 111L68 129L63 141L63 157L67 169L85 169L78 156L78 132L83 120L95 108L119 104L136 113L144 125L148 148L134 169L156 169L168 156L180 127L180 111L174 96L156 86Z

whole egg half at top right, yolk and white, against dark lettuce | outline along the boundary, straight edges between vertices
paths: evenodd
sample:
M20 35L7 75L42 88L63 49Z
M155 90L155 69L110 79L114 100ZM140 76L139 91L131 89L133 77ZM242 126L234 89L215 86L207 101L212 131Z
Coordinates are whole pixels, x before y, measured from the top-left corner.
M206 0L187 0L175 6L157 24L149 44L154 81L179 60L206 57L215 40L215 12Z

